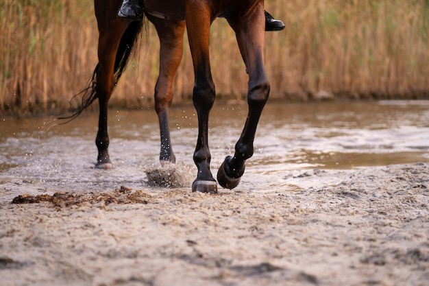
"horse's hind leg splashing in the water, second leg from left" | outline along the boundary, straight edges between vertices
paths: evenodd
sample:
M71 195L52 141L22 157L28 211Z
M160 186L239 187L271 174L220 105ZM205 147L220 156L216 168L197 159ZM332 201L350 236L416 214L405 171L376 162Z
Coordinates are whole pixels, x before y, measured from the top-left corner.
M173 80L183 53L184 21L169 21L147 16L160 38L160 74L155 86L155 110L160 123L160 163L175 163L171 147L169 110L173 99Z

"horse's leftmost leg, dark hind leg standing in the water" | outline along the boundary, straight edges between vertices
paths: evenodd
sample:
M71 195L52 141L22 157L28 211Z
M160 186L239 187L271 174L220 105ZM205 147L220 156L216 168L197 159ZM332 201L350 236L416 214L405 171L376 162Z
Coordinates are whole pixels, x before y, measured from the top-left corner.
M105 8L103 3L99 3L96 8ZM108 102L110 95L116 84L114 78L114 62L117 50L123 32L128 23L124 19L110 17L106 10L95 11L99 24L99 43L98 43L98 70L97 70L97 97L99 101L99 123L95 145L97 145L98 156L95 167L99 169L108 169L112 167L108 152ZM116 13L116 12L115 12Z

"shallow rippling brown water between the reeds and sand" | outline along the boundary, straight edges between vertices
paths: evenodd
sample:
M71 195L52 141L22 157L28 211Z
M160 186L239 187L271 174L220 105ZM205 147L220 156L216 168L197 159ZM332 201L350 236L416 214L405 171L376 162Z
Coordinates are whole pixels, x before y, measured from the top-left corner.
M245 104L213 108L209 143L214 175L233 153L246 114ZM154 110L111 110L109 126L114 169L99 170L93 167L96 114L87 112L65 125L53 125L51 119L2 118L0 187L21 193L147 187L145 170L159 164ZM193 107L173 108L173 150L177 161L191 168L190 184L196 175L196 136ZM429 162L429 102L271 103L262 113L254 146L238 189L294 190L286 176L306 169Z

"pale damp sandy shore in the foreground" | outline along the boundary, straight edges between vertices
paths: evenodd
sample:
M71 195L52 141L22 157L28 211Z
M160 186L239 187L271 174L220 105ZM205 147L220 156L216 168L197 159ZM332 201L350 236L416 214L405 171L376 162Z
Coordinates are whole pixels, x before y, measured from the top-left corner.
M428 164L284 180L306 187L118 186L33 204L12 204L3 181L0 284L428 285Z

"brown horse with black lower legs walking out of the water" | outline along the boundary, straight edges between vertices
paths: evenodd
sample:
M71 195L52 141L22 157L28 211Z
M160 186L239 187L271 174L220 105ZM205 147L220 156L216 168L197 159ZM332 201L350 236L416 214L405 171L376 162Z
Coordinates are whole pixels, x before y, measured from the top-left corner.
M72 117L77 117L98 99L96 167L109 168L108 101L125 69L143 22L119 18L117 11L121 0L94 2L99 29L99 62L92 81L84 91L82 104ZM155 88L155 108L160 123L161 164L166 161L175 163L169 132L169 108L173 97L173 78L182 59L185 27L188 32L195 73L193 104L198 115L198 138L193 156L198 173L192 184L193 191L217 193L217 183L210 171L208 147L208 117L215 101L215 84L210 72L209 57L210 25L217 17L223 17L234 29L249 75L249 112L243 133L235 145L235 154L225 158L219 168L217 180L222 187L236 187L245 171L245 161L254 152L256 127L269 96L269 82L262 53L265 32L264 0L145 0L145 14L156 27L160 39L160 70Z

